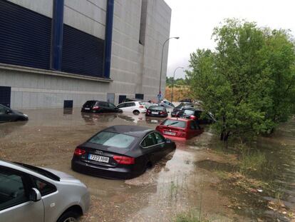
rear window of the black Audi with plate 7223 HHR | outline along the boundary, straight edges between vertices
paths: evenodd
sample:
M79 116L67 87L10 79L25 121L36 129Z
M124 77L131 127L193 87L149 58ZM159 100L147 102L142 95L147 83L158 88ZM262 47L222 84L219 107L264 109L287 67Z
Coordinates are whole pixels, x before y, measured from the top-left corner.
M101 131L90 139L90 143L100 144L103 146L113 146L117 148L128 148L135 140L133 136Z

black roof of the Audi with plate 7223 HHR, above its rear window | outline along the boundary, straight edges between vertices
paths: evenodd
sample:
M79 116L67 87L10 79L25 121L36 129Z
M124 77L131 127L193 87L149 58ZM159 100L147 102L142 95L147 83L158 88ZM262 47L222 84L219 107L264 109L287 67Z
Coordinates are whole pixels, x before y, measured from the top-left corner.
M124 133L130 136L141 137L145 136L146 133L152 131L152 129L143 126L132 126L132 125L117 125L105 128L103 131L113 133Z

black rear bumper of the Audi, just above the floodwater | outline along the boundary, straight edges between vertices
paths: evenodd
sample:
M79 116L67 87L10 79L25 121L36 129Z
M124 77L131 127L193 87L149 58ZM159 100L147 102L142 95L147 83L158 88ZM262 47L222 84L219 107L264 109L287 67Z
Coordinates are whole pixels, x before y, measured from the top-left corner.
M92 176L112 179L129 179L137 176L131 168L110 168L97 166L80 160L72 159L71 168L73 171L85 173Z

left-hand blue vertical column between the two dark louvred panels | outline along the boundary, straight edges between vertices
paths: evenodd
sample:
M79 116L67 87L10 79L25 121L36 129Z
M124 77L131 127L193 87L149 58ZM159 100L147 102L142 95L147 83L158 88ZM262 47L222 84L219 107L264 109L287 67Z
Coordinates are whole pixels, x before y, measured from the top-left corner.
M58 71L61 71L63 51L63 6L64 0L53 0L50 69Z

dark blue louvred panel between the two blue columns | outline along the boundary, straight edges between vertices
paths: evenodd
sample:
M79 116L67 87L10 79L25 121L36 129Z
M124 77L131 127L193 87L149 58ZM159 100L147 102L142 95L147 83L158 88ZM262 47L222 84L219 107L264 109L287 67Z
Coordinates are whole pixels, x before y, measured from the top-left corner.
M104 41L63 24L61 70L72 74L103 77Z

